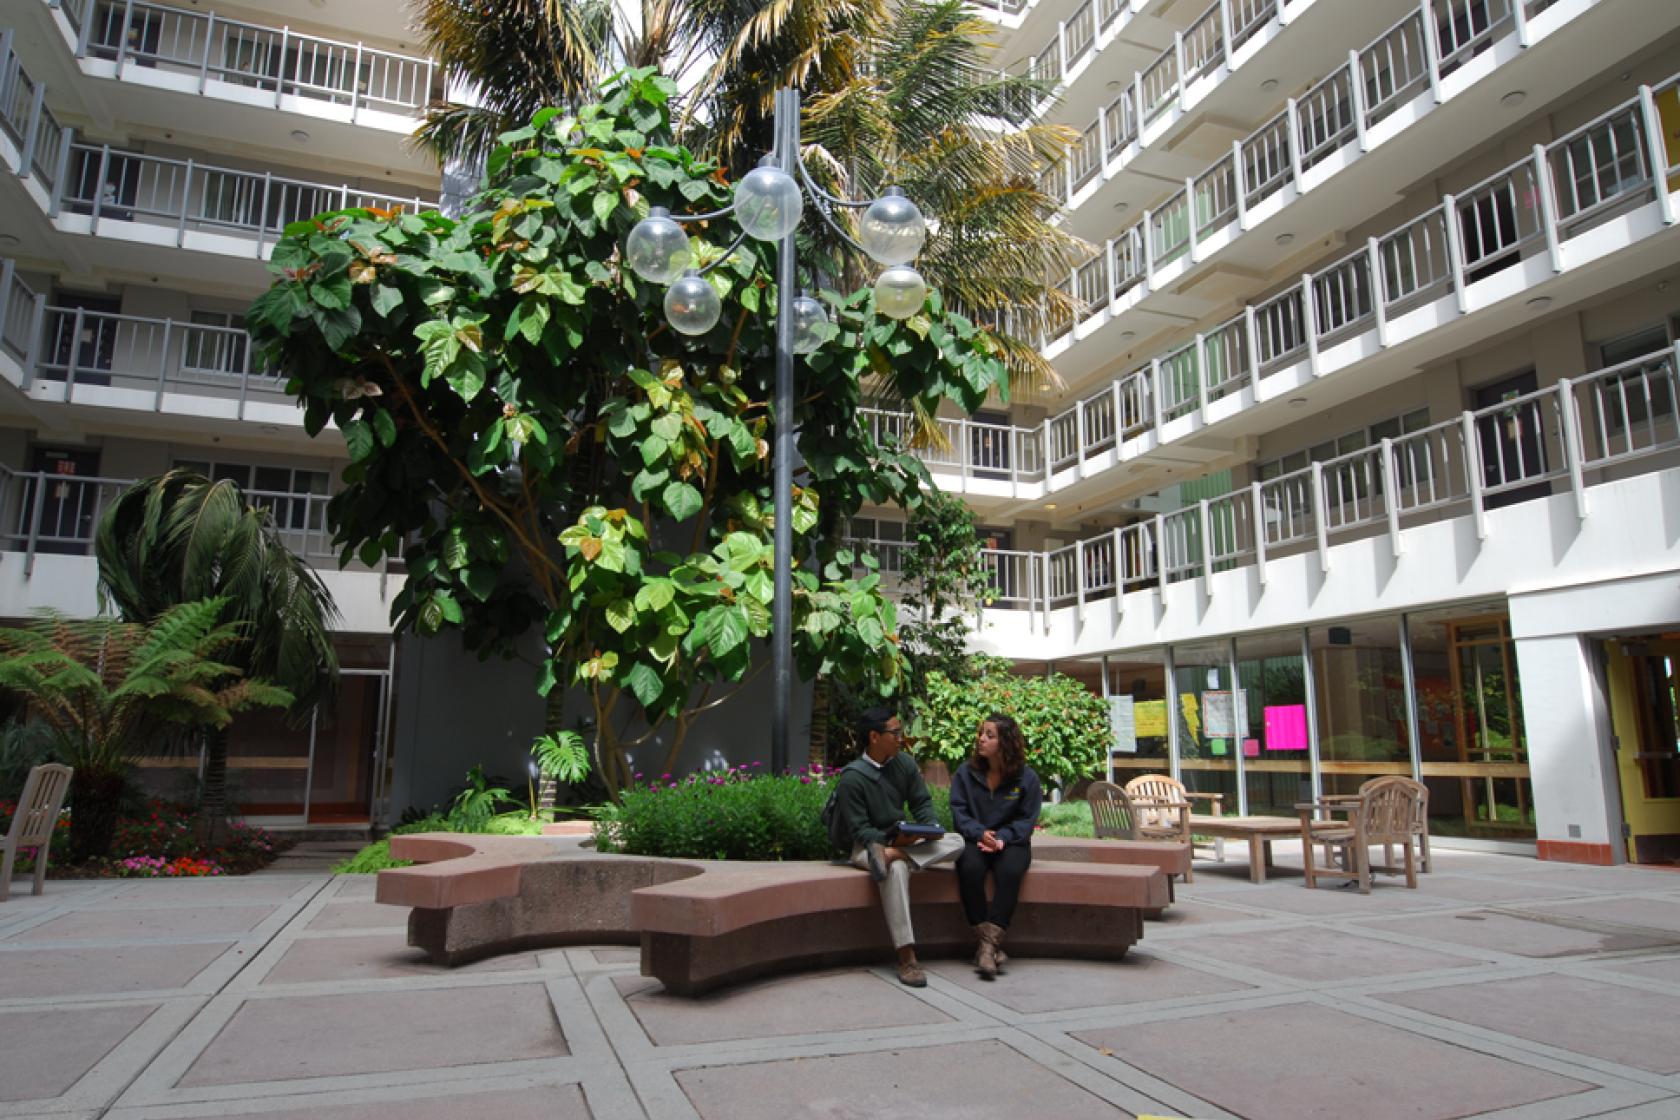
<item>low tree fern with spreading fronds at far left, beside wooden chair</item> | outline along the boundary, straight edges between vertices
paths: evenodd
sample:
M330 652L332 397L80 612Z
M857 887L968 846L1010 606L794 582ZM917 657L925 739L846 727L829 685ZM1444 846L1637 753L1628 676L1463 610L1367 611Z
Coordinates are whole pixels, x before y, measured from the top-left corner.
M227 606L227 599L181 603L150 623L47 613L25 628L0 630L0 687L29 702L76 767L76 860L111 850L128 767L165 725L227 727L235 712L292 702L228 657L244 645L244 628L222 621Z

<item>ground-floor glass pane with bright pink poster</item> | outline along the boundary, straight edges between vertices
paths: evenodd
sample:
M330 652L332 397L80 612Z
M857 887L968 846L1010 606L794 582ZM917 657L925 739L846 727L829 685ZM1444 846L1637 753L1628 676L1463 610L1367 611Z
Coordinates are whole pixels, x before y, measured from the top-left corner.
M1238 638L1236 675L1247 709L1240 746L1248 813L1295 816L1297 803L1312 801L1300 631Z

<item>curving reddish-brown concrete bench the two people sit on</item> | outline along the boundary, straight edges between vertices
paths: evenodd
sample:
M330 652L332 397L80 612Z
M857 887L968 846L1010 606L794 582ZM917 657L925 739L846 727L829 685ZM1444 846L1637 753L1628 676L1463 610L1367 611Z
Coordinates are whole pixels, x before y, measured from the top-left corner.
M1117 959L1171 902L1183 845L1040 836L1010 930L1015 955ZM380 871L376 900L410 907L408 944L447 966L499 952L640 944L670 991L889 952L867 875L828 863L721 863L598 855L548 840L418 833L391 838L418 866ZM946 868L912 877L917 947L973 952Z

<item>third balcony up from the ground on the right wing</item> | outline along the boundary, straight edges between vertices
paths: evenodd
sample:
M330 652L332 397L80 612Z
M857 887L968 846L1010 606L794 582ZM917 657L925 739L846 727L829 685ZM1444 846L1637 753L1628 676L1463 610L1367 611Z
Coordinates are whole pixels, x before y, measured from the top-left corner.
M1549 102L1603 69L1591 44L1677 24L1645 0L1564 0L1520 22L1517 10L1453 55L1436 49L1438 30L1426 34L1435 17L1415 12L1152 203L1127 208L1137 183L1161 185L1124 175L1124 153L1089 166L1072 160L1075 218L1112 213L1109 203L1141 217L1062 280L1084 312L1048 326L1045 356L1080 385L1116 353L1260 289L1300 243L1401 201L1394 183L1415 181L1420 166L1446 166L1492 141L1515 119L1502 94Z

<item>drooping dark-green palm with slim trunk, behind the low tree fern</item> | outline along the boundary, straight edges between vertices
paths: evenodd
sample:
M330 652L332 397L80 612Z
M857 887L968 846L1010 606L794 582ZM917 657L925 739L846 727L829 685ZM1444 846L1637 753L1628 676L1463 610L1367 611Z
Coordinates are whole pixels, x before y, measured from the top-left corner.
M94 536L101 598L129 621L150 621L178 603L218 598L225 621L249 638L240 672L292 695L294 722L329 702L338 687L333 623L338 608L321 578L286 547L269 510L245 504L234 482L188 470L141 479L123 490ZM227 725L205 742L202 830L227 816Z

